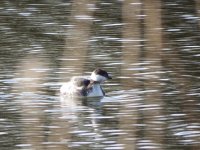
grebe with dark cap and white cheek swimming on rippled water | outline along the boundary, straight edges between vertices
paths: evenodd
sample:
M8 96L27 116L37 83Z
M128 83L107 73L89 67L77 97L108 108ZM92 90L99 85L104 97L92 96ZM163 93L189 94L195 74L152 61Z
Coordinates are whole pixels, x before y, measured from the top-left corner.
M106 71L95 69L90 77L73 77L69 82L62 85L60 93L64 96L104 96L105 93L101 84L108 79L112 78Z

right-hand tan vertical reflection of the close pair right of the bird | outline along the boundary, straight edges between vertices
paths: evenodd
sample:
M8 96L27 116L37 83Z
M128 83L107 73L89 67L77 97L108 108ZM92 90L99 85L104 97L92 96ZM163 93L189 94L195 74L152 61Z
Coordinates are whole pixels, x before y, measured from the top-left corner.
M145 61L150 62L145 66L148 68L144 76L144 104L156 105L154 109L144 111L144 124L146 129L144 134L150 140L155 149L165 149L164 124L161 121L163 116L163 104L161 98L162 76L161 55L162 55L162 26L161 26L161 2L157 0L144 0L145 16Z

